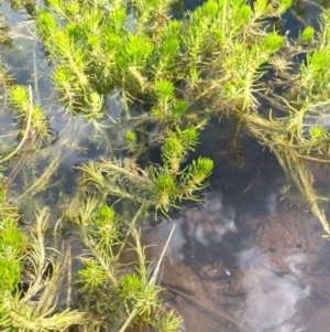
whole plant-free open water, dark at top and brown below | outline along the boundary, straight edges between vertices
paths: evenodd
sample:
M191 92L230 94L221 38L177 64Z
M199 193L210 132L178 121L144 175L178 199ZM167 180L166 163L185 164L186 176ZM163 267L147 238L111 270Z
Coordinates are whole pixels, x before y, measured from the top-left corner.
M329 331L330 244L310 212L283 199L274 156L248 138L244 164L234 167L230 131L226 120L201 137L202 154L216 160L205 205L144 233L156 259L176 224L164 297L186 331Z

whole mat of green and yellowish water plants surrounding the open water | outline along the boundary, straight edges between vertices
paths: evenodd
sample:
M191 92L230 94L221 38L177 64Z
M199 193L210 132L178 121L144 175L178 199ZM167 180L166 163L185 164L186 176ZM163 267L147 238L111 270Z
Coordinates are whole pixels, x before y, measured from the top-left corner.
M183 329L139 224L202 200L213 162L191 151L211 117L275 153L329 237L310 165L330 161L330 11L290 39L276 28L290 2L209 0L176 20L172 0L50 0L18 26L1 17L1 331Z

